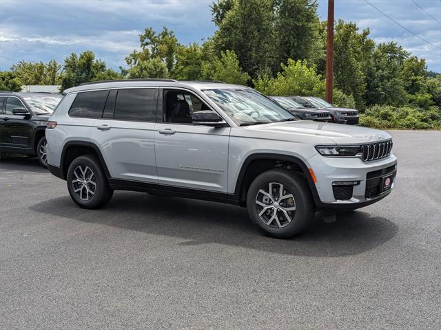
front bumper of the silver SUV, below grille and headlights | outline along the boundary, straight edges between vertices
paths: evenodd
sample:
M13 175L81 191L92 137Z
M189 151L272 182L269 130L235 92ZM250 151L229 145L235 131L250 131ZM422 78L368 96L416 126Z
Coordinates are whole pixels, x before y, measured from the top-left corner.
M383 199L395 186L396 175L393 174L396 173L397 158L393 154L373 162L363 162L360 158L323 157L316 154L308 162L317 179L315 186L320 199L318 208L361 208ZM393 179L391 189L382 192L380 188L376 188L384 175L393 175ZM359 182L351 186L350 198L336 199L333 183L341 181Z

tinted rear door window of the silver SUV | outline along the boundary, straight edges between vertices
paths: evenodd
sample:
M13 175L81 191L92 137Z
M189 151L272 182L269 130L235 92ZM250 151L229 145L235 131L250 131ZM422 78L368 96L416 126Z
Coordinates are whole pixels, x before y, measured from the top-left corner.
M119 89L114 119L154 122L156 119L156 89Z

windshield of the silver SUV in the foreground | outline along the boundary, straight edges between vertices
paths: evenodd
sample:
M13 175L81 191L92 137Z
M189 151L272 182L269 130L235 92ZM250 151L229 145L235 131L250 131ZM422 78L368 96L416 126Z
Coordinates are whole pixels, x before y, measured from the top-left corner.
M206 89L203 92L238 125L296 119L253 89Z

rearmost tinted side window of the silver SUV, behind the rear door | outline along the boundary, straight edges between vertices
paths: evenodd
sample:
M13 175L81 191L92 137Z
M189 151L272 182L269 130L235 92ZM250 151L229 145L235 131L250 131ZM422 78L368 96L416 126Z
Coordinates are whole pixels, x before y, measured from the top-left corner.
M69 110L70 117L100 118L109 91L79 93Z

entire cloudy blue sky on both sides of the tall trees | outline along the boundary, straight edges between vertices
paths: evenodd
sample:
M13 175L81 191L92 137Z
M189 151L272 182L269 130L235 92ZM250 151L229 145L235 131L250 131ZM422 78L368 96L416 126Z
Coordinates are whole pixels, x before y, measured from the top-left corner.
M441 72L441 0L336 0L335 19L369 28L376 43L396 41L429 70ZM165 25L183 44L212 36L212 0L0 0L0 70L17 61L54 58L62 63L72 52L92 50L108 67L125 66L124 58L139 47L147 27ZM327 19L327 0L318 0L320 19ZM426 12L418 8L420 5ZM431 16L429 16L429 13ZM433 46L429 43L432 43Z

